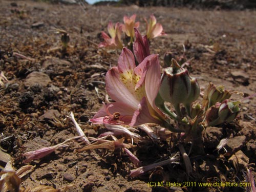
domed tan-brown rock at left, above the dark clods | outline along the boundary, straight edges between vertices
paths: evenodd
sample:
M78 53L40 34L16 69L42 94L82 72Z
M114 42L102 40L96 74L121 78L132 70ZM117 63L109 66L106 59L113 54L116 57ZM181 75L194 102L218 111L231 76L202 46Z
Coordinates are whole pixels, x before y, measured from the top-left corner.
M24 81L24 85L26 87L31 87L34 84L40 84L41 86L46 87L50 82L51 79L47 74L34 71L27 76Z

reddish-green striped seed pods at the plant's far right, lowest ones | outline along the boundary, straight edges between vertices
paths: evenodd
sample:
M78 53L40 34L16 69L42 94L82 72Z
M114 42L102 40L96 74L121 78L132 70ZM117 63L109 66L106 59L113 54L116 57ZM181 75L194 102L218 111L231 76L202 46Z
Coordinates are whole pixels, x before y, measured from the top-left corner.
M228 101L226 99L222 103L217 102L215 106L211 106L205 115L207 126L233 121L240 111L239 103L239 101Z

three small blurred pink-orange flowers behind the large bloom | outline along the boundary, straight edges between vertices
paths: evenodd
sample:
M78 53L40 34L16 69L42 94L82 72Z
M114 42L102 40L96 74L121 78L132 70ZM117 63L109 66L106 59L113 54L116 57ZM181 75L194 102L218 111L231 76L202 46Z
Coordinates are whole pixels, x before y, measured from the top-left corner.
M99 47L108 47L110 49L122 49L123 46L127 46L122 40L122 33L125 37L128 37L128 45L133 45L136 37L136 31L134 29L139 28L140 23L135 22L136 14L131 17L124 16L123 24L116 23L115 27L112 22L108 25L108 33L104 31L101 32L101 35L104 39L103 42L99 44ZM151 40L155 37L164 35L163 27L161 24L157 23L156 17L154 15L150 16L149 21L145 19L146 22L146 35L144 38Z

